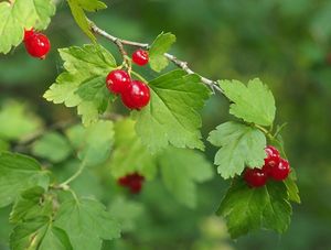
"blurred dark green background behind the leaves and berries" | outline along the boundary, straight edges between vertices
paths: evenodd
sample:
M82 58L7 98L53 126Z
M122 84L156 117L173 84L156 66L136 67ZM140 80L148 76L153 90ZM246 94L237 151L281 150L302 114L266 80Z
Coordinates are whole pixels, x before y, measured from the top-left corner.
M154 181L147 183L141 196L118 196L113 203L110 208L122 216L127 233L121 240L106 243L105 249L331 249L331 1L106 2L109 9L90 18L108 32L151 42L161 31L170 31L178 36L172 52L190 62L197 73L213 79L243 81L259 77L269 85L277 101L278 123L288 122L282 135L290 163L297 170L302 204L293 206L292 222L282 236L259 231L232 241L224 221L213 216L228 183L215 176L200 187L197 208L188 209ZM38 118L29 115L31 110L47 124L75 116L75 110L42 98L62 72L56 48L88 43L66 3L60 2L45 32L52 41L46 61L31 58L22 45L9 55L0 55L1 108L14 107L26 118L23 124L11 120L10 112L0 115L0 122L8 123L9 129L32 126L29 120ZM117 53L113 44L100 41ZM153 77L151 73L146 75ZM18 110L23 108L12 101L23 104L29 111ZM209 101L203 110L204 138L217 124L232 119L227 111L222 96ZM1 143L4 144L0 140L0 146ZM206 153L212 161L215 149L207 144ZM109 193L113 194L110 188ZM8 213L0 213L0 249L7 249Z

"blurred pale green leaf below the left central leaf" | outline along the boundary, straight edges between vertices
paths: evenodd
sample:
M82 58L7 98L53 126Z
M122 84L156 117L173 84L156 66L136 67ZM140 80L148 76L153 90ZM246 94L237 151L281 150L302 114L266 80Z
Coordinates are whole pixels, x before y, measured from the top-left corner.
M88 128L75 126L66 134L78 151L78 157L87 165L100 164L109 157L114 143L111 121L100 120Z

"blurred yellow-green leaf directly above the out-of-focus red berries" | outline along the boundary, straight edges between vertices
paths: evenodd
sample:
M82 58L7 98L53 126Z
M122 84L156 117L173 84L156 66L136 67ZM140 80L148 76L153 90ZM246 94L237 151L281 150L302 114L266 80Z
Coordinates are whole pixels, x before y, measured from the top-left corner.
M135 131L136 122L130 119L115 123L115 144L109 166L115 178L138 172L151 180L157 174L156 156L152 155Z

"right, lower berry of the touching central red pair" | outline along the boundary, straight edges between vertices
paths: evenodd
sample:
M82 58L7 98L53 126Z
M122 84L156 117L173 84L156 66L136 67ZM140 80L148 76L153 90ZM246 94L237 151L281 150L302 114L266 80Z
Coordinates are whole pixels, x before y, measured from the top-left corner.
M129 109L141 109L150 100L149 87L139 80L132 80L121 94L122 104Z

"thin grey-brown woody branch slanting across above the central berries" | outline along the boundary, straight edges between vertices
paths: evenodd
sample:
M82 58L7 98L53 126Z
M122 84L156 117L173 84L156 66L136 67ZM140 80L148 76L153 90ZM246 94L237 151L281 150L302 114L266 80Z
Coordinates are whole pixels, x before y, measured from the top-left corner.
M148 43L138 43L138 42L134 42L134 41L128 41L128 40L121 40L119 37L116 37L109 33L107 33L106 31L99 29L97 25L95 25L93 22L90 22L90 29L94 33L99 34L102 36L104 36L105 39L111 41L113 43L115 43L120 53L122 54L122 56L126 56L126 53L124 53L124 45L129 45L129 46L136 46L136 47L141 47L141 48L150 48L150 45ZM171 55L169 53L166 53L164 56L172 62L174 65L177 65L178 67L182 68L184 72L186 72L188 74L196 74L195 72L193 72L189 66L188 63L184 61L180 61L179 58L177 58L174 55ZM199 74L196 74L199 75ZM200 75L199 75L200 76ZM223 94L222 88L218 86L217 81L209 79L206 77L200 76L201 81L203 84L205 84L206 86L209 86L213 93L215 93L215 90L220 91L221 94Z

